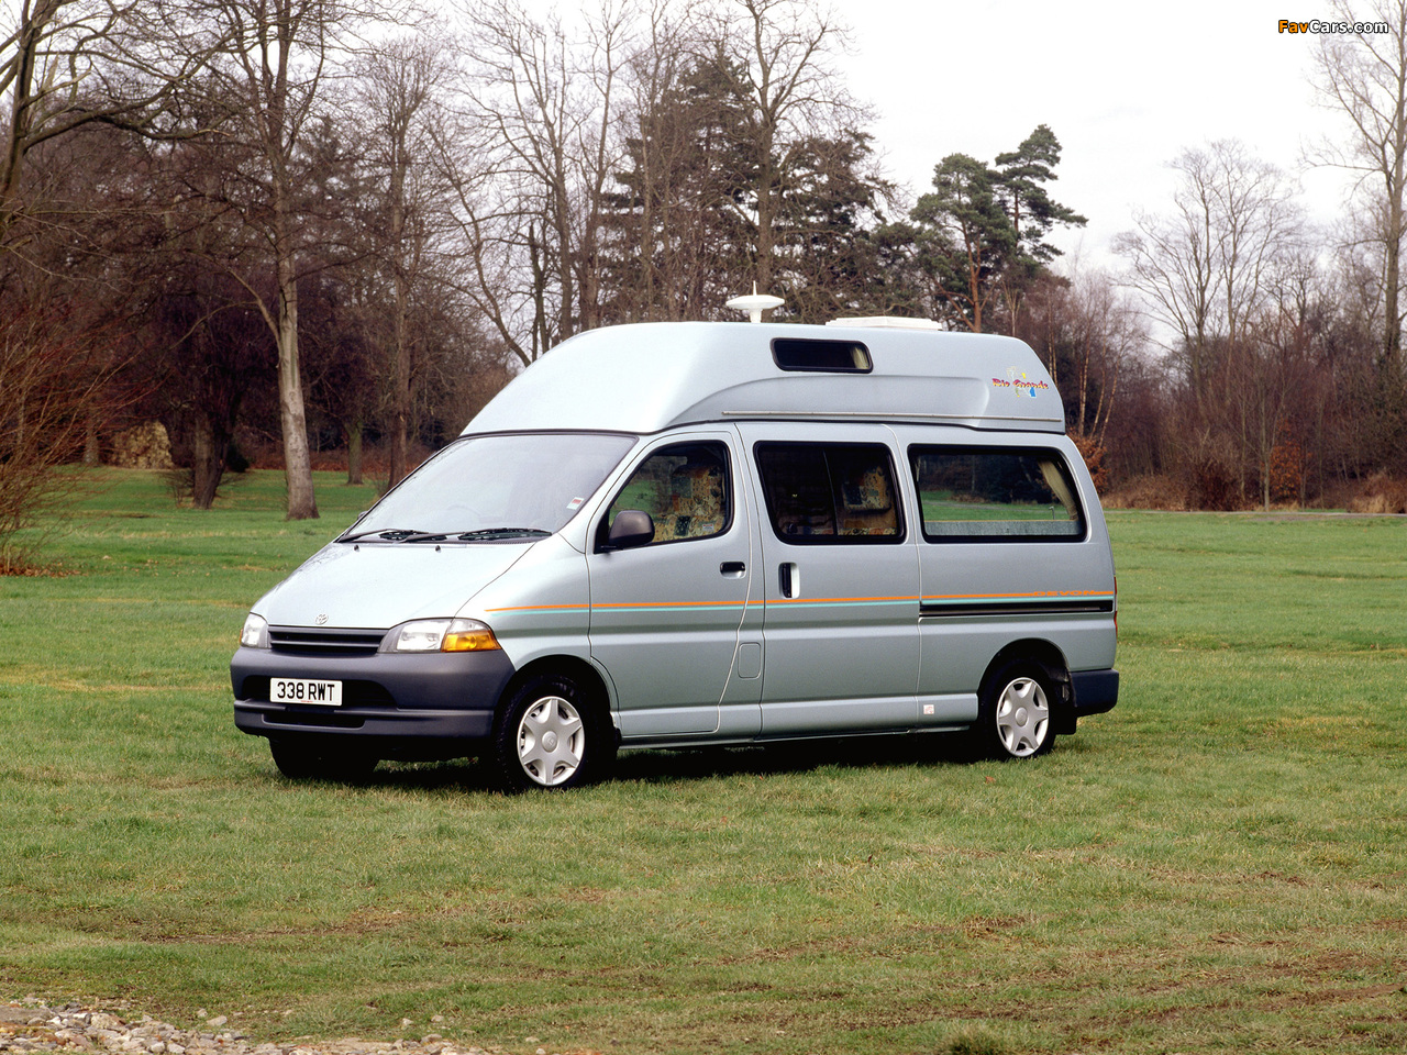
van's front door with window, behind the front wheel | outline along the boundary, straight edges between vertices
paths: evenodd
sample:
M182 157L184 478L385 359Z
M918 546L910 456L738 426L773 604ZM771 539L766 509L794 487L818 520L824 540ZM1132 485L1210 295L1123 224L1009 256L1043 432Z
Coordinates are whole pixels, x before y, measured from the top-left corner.
M591 656L615 686L625 740L756 731L760 644L739 647L753 543L737 480L733 433L671 436L646 450L594 533ZM609 549L623 509L650 515L650 543Z

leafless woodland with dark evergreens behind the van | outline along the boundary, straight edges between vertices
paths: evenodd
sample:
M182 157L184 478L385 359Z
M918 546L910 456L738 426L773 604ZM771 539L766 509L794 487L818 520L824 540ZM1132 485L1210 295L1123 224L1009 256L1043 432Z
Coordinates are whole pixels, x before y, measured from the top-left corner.
M1407 0L1368 7L1316 52L1332 229L1169 143L1090 270L1058 129L896 186L806 0L0 0L0 546L153 421L183 501L255 463L317 516L315 466L394 482L573 333L754 283L1027 340L1116 502L1407 509Z

